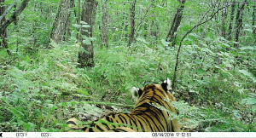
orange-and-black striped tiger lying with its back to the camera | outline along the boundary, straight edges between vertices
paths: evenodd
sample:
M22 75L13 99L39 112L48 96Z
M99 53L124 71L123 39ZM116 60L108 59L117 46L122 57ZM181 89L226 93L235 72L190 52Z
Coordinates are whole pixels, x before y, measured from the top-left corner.
M75 118L67 120L67 124L72 130L85 132L182 132L177 118L169 118L172 117L170 112L177 114L170 104L176 101L170 90L169 78L161 84L148 84L143 89L132 87L136 104L131 113L112 114L85 127L78 127Z

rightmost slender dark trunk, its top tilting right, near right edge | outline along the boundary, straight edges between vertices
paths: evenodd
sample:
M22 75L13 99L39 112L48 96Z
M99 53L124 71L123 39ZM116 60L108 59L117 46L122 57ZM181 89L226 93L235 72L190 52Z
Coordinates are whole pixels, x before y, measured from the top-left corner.
M236 33L235 33L235 41L236 41L236 43L234 43L234 47L235 48L238 48L238 46L239 46L239 36L240 36L241 27L242 27L242 17L241 17L241 14L243 12L244 5L246 3L247 3L247 0L243 1L243 3L241 4L241 7L238 6L237 13L236 13Z

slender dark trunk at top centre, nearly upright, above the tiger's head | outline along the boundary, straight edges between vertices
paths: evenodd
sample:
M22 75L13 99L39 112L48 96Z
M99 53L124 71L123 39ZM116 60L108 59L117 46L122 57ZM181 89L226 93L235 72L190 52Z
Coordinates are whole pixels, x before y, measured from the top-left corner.
M134 33L135 33L135 5L136 5L136 0L133 0L133 3L131 4L131 32L130 32L130 37L129 37L129 42L128 42L128 47L131 46L131 43L134 42Z

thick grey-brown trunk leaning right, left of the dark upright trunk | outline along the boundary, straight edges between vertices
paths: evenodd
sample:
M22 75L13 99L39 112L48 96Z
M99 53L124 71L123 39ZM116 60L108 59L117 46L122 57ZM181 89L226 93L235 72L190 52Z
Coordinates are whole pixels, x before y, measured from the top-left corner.
M68 30L69 16L73 8L74 0L61 0L58 13L55 17L55 22L52 27L50 38L56 43L61 43L65 40L65 35Z

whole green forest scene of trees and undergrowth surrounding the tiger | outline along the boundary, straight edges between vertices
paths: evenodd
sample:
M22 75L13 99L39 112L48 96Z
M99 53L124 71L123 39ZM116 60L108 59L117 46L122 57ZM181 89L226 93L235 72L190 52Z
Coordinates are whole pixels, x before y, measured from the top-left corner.
M0 131L64 131L172 80L197 131L256 131L255 0L0 0ZM111 111L113 112L113 111Z

